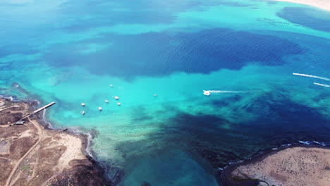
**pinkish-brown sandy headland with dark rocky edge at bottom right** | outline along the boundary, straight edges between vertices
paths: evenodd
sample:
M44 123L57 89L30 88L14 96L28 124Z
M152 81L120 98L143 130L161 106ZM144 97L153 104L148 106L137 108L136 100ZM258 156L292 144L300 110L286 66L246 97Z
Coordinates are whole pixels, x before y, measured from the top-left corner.
M225 174L226 185L329 186L330 149L289 147L230 166Z

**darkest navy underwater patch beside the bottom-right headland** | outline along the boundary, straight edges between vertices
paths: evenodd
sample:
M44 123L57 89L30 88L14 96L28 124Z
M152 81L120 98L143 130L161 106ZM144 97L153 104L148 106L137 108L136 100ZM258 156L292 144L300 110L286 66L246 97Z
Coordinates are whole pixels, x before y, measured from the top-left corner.
M218 116L193 116L180 113L173 118L183 147L197 152L211 163L215 171L228 162L257 154L262 149L281 144L314 140L329 142L329 120L316 109L295 104L285 98L270 95L260 97L254 104L242 107L259 118L250 123L231 123L231 128L219 128L228 121ZM166 129L164 129L166 130Z

